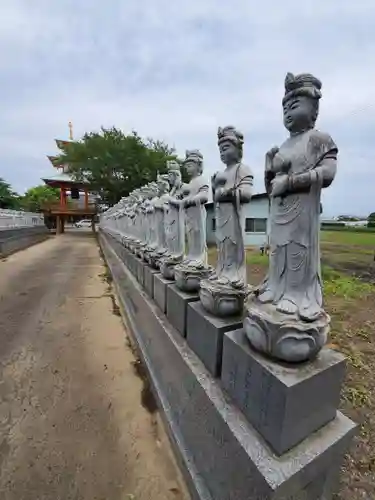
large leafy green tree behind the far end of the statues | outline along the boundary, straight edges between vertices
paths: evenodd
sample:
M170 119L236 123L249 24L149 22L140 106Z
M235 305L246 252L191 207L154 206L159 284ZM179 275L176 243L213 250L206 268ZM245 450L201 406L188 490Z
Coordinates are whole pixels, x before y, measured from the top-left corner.
M113 127L86 133L78 142L61 146L59 163L69 165L77 181L87 181L102 203L113 205L130 191L165 172L166 161L176 159L174 149L162 141L125 135Z

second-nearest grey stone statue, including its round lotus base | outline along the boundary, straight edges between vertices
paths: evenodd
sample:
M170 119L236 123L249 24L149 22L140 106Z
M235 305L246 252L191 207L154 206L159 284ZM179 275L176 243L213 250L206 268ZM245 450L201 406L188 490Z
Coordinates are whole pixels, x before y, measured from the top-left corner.
M217 265L215 274L202 280L200 299L207 311L231 316L242 313L248 295L242 206L251 199L253 174L241 162L243 135L238 130L219 128L218 145L226 168L212 178Z

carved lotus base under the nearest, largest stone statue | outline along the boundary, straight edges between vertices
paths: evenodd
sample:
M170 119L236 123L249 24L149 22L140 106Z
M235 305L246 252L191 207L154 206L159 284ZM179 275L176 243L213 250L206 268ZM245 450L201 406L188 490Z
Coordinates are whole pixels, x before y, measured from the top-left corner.
M324 313L311 323L276 311L251 296L246 304L244 329L254 349L271 358L298 363L314 358L327 342L330 317Z

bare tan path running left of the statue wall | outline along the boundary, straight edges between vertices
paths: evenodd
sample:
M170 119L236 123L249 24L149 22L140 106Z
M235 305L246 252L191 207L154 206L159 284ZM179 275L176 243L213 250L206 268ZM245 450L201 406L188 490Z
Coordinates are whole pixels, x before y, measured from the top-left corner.
M2 500L188 498L104 276L84 233L0 262Z

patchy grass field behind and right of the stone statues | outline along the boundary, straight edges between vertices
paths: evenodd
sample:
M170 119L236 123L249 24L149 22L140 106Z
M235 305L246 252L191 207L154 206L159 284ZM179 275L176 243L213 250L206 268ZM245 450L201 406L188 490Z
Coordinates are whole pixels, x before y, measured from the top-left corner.
M322 231L330 345L348 359L340 410L360 424L345 460L339 500L375 499L375 233ZM214 263L216 251L209 250ZM247 249L248 281L265 276L268 257Z

